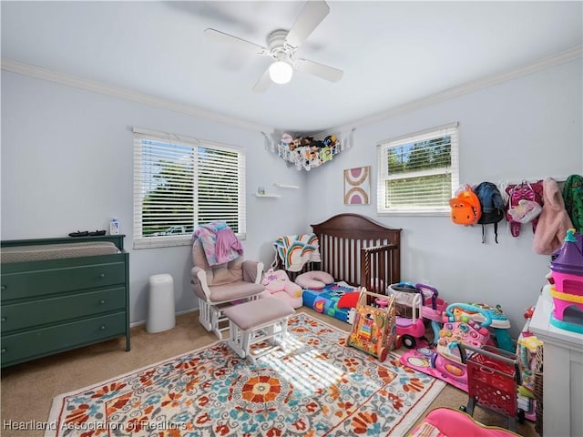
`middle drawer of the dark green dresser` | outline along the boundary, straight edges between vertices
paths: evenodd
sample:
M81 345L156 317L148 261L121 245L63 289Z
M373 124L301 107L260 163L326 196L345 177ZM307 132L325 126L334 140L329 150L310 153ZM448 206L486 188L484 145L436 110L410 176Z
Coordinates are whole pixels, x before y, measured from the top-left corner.
M87 291L2 306L0 328L3 333L56 321L80 319L126 307L126 289Z

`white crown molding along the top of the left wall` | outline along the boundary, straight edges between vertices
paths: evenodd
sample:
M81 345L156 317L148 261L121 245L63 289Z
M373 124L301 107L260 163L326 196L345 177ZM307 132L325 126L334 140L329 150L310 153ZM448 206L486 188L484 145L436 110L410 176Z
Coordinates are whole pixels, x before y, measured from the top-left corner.
M42 68L40 66L31 66L23 62L15 61L14 59L2 58L2 69L11 73L19 75L31 76L37 79L48 80L66 86L74 86L76 88L93 91L95 93L105 94L111 97L124 98L134 102L142 103L151 107L159 107L168 109L169 111L179 112L194 117L204 117L219 123L225 123L230 126L242 127L257 132L272 132L273 127L267 127L252 123L251 121L242 120L240 118L223 116L219 113L211 112L207 109L185 105L174 102L169 99L150 96L138 91L132 91L127 88L119 86L111 86L94 80L85 79L82 77L66 75L53 70Z

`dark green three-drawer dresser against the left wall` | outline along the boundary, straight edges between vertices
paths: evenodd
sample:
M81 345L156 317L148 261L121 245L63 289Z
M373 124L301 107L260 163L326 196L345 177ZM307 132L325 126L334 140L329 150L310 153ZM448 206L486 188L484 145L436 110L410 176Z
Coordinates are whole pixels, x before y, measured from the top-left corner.
M123 235L2 241L2 249L109 241L120 253L2 263L2 367L125 336L129 254ZM9 250L9 249L6 249Z

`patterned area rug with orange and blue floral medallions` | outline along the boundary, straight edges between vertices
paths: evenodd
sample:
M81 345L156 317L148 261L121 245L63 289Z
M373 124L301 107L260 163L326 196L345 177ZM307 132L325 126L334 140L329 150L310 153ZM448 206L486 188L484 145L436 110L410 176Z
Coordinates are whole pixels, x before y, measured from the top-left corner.
M254 366L222 340L57 396L46 436L404 435L445 383L346 336L299 313Z

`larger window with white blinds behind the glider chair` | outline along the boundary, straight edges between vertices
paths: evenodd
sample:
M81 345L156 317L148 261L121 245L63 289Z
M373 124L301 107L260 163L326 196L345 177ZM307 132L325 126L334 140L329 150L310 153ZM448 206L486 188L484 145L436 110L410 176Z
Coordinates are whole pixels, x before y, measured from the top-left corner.
M134 248L191 244L213 220L245 237L243 152L134 129Z

